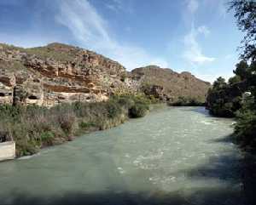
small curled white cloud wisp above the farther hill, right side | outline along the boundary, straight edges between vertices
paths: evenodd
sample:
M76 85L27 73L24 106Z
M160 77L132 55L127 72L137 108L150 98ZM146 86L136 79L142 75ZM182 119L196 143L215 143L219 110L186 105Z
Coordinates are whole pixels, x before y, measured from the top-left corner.
M205 35L208 32L210 31L208 31L206 26L200 26L197 29L192 26L189 33L185 35L183 39L183 43L185 46L183 57L185 60L189 61L191 65L202 65L215 60L212 57L207 57L206 55L202 54L201 46L197 42L197 37L200 34Z

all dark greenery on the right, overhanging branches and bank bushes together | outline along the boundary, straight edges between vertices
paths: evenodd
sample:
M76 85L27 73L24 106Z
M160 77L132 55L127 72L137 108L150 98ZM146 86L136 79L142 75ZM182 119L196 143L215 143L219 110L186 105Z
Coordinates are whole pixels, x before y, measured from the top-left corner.
M236 117L235 136L242 147L256 150L256 2L232 0L238 28L245 32L241 41L241 62L235 77L226 83L219 77L209 90L207 107L212 114Z

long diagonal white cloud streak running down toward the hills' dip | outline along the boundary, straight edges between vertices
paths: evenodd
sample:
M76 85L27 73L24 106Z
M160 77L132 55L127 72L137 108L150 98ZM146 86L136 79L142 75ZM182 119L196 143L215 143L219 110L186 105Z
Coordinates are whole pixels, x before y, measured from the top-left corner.
M60 8L55 14L56 22L67 27L80 46L107 55L128 70L153 63L167 67L166 60L151 56L143 48L115 40L108 28L108 21L102 19L88 0L57 1Z

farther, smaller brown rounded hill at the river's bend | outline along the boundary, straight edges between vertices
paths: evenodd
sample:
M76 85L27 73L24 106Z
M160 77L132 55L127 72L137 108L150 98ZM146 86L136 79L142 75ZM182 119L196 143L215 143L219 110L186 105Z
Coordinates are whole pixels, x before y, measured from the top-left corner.
M201 81L189 72L177 73L156 65L137 68L131 78L140 82L145 94L152 94L160 100L174 102L178 97L187 97L205 102L210 83Z

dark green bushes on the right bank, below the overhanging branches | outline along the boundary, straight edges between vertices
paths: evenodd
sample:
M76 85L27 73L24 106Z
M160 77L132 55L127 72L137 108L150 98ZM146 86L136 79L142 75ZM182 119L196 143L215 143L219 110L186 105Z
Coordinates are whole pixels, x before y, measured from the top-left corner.
M256 62L241 61L228 83L218 77L207 96L207 108L218 117L236 117L235 138L241 147L256 150Z

